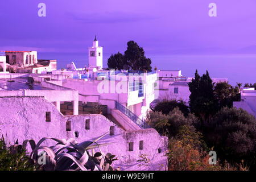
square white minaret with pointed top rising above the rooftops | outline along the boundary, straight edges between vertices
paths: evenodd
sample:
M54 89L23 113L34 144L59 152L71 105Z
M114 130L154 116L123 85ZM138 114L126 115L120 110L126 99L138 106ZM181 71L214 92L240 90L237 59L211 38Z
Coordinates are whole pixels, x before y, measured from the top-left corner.
M98 40L93 40L93 46L88 48L89 51L89 67L100 67L102 68L102 47L98 46Z

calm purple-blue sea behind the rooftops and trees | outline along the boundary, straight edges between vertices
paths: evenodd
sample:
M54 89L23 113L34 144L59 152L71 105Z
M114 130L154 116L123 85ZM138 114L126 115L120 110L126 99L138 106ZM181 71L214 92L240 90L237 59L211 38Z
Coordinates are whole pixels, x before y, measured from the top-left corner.
M107 67L110 54L104 54L103 66ZM146 55L152 60L152 68L181 70L181 75L193 77L196 69L200 75L208 70L210 77L228 78L231 85L236 82L256 82L256 54L233 55ZM40 53L38 59L56 59L57 69L66 68L75 62L77 68L88 65L88 53Z

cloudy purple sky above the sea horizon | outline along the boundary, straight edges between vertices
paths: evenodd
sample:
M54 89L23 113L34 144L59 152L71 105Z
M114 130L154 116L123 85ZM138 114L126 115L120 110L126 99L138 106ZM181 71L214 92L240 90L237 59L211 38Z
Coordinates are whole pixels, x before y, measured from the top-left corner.
M38 16L46 3L47 16ZM208 5L217 4L210 18ZM135 40L147 54L254 52L255 0L10 0L0 2L0 49L105 53Z

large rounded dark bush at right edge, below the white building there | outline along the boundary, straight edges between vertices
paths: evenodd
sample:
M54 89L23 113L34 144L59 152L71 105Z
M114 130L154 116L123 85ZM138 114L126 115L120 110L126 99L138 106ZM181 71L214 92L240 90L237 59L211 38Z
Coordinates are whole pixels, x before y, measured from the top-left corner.
M247 165L255 165L255 125L254 116L247 111L224 107L205 125L204 135L221 159L230 162L247 159Z

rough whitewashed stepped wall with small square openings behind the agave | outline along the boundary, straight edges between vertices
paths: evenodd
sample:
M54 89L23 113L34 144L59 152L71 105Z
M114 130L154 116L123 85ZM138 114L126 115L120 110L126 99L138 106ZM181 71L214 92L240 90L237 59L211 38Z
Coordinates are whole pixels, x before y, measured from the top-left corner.
M38 142L43 137L75 138L75 132L77 142L83 142L96 139L114 126L114 135L107 134L99 142L114 142L101 147L105 154L111 152L117 156L114 167L121 167L121 170L159 170L166 167L167 138L160 137L154 129L124 131L100 114L64 116L43 97L0 97L0 103L0 133L7 144L13 144L16 139L21 143L25 139ZM51 122L46 122L46 112L51 112ZM89 130L85 129L86 119L90 119ZM66 131L67 121L71 121L71 131ZM142 150L140 141L143 141ZM129 151L131 142L133 151ZM53 142L47 140L44 144L49 146ZM142 155L146 155L150 163L137 162Z

